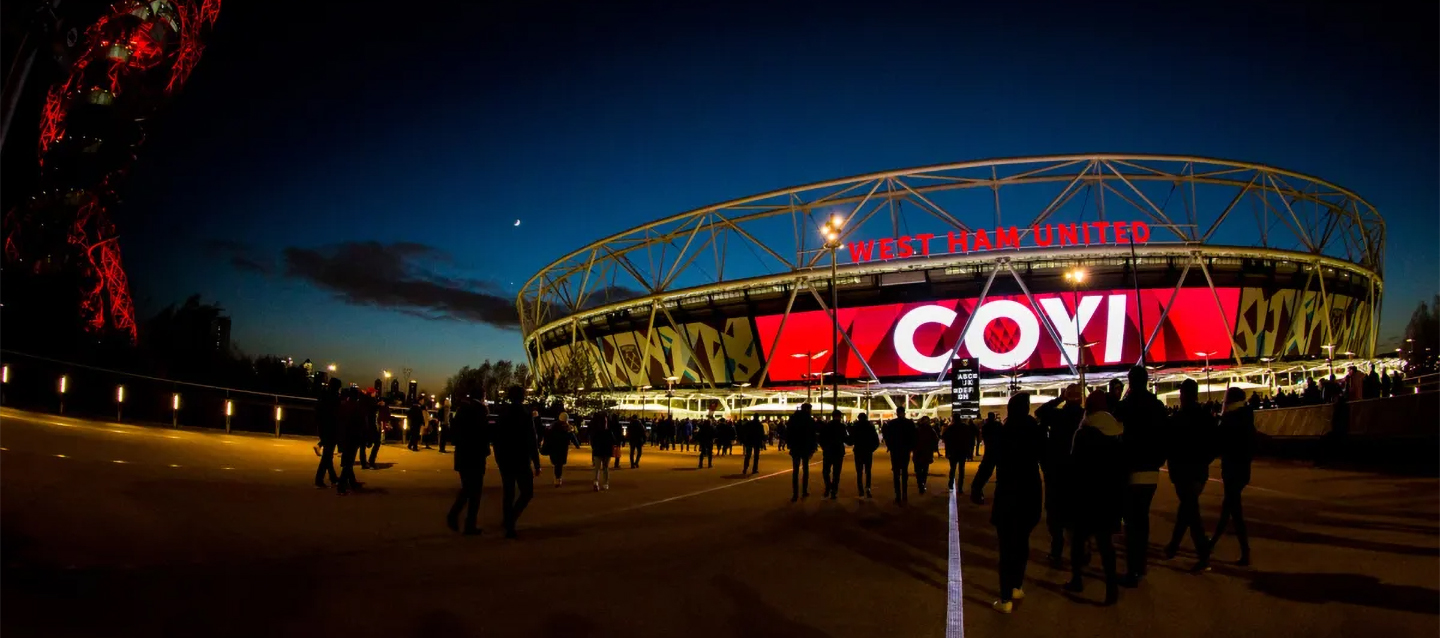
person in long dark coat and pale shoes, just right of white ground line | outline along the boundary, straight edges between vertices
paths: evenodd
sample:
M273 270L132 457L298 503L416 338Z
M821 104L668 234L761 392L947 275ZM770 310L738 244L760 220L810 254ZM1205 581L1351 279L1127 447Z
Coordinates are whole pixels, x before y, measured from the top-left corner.
M1001 614L1015 609L1014 601L1025 598L1025 565L1030 562L1030 533L1040 524L1040 459L1045 454L1045 431L1030 416L1030 393L1009 397L1005 425L1001 428L1005 455L995 468L995 504L991 524L999 542Z

